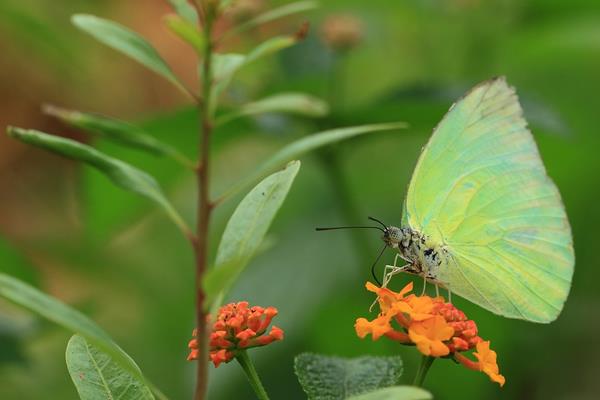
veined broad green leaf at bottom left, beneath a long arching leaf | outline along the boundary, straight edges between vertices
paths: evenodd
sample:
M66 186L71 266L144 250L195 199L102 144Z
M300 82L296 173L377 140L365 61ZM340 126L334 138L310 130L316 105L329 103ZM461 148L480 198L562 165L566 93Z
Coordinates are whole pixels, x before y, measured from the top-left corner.
M144 382L82 336L74 335L69 340L66 361L71 379L82 400L154 399Z

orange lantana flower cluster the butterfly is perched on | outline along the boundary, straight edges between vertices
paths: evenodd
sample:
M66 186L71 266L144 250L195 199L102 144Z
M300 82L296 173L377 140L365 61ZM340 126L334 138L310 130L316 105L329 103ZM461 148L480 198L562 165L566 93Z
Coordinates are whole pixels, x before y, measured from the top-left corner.
M370 334L373 340L386 336L403 344L416 345L426 356L452 357L467 368L484 372L500 386L504 385L505 379L499 373L496 352L490 350L490 342L483 341L477 334L475 322L451 303L446 303L443 297L408 295L413 289L412 282L398 293L370 282L366 288L377 294L381 312L372 321L356 320L354 328L360 338ZM477 361L461 354L471 349L476 349L473 355Z

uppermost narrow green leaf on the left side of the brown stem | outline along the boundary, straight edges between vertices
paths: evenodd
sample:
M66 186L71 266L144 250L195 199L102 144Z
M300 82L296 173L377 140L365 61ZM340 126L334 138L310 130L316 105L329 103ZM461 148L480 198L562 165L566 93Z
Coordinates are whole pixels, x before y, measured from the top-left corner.
M133 58L140 64L167 78L167 80L187 93L187 90L179 82L173 71L171 71L171 68L161 58L154 47L136 32L116 22L94 15L77 14L71 20L75 26L89 33L101 43Z

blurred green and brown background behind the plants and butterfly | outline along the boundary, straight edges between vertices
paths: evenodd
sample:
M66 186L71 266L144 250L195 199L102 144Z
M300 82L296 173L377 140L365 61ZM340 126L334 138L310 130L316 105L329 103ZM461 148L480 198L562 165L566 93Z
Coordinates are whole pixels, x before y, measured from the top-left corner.
M240 0L241 1L241 0ZM283 1L244 1L235 18ZM196 117L187 99L143 67L94 42L69 23L87 12L147 37L190 85L195 61L165 29L161 0L2 0L0 126L38 128L90 142L44 117L52 103L135 121L193 156ZM360 40L332 51L322 25L346 15ZM436 362L426 387L437 399L593 399L600 393L600 2L596 0L323 0L228 41L245 51L311 23L307 39L245 69L224 107L281 90L332 104L320 120L266 115L230 123L215 135L215 191L244 176L290 140L327 127L407 121L410 129L367 135L303 158L301 172L257 257L229 296L279 308L286 339L252 353L272 398L305 398L293 357L400 354L410 383L412 348L360 340L353 329L373 298L364 290L380 242L371 232L315 232L315 226L399 224L405 189L432 128L451 102L479 81L506 75L518 89L550 176L573 228L571 295L550 325L506 320L453 300L498 352L507 384ZM358 21L358 22L357 22ZM232 18L228 23L235 23ZM224 24L225 26L226 24ZM2 128L3 129L3 128ZM167 159L94 141L150 171L190 220L193 177ZM518 188L515 188L518 190ZM216 214L212 245L233 210ZM98 321L173 399L191 397L185 361L193 328L192 252L151 204L103 176L0 135L0 270L76 306ZM385 259L391 262L392 253ZM396 282L402 284L406 277ZM64 363L70 334L0 303L0 398L75 399ZM211 368L211 399L252 398L240 368Z

